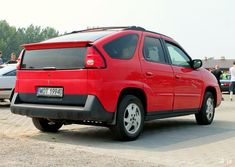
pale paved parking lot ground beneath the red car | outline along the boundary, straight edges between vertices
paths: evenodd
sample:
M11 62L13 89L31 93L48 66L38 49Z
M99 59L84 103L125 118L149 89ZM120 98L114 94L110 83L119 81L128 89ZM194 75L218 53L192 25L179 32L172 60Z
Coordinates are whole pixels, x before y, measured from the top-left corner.
M210 126L194 116L147 122L143 135L119 142L103 127L64 126L45 134L0 105L0 166L235 166L235 101L228 95Z

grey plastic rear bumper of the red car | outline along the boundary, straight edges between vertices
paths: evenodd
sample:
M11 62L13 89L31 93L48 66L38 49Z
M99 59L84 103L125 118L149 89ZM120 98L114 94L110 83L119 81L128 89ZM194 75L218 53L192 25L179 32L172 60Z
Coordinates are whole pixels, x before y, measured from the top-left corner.
M71 121L100 121L111 123L114 113L107 112L94 95L88 95L85 106L52 105L24 103L15 93L11 102L11 112L14 114L26 115L47 119L60 119Z

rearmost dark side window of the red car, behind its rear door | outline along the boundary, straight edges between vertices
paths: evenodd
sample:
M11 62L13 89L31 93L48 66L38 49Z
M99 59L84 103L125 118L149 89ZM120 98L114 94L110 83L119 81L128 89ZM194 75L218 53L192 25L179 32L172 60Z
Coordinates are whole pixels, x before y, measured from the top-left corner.
M104 45L104 50L114 59L130 59L138 42L136 34L125 35Z

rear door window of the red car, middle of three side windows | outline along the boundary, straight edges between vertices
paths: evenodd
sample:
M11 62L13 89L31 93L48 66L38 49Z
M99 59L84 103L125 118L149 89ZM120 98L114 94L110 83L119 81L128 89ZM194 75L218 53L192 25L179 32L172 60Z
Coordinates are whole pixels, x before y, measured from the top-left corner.
M157 38L144 38L143 55L147 61L165 63L162 45L160 40Z

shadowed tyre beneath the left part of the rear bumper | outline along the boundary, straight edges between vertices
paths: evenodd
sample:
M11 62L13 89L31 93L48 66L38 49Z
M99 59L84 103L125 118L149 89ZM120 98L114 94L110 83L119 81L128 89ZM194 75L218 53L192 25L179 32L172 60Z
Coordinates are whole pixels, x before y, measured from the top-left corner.
M62 122L53 122L44 118L32 118L34 126L42 132L57 132L63 125Z

